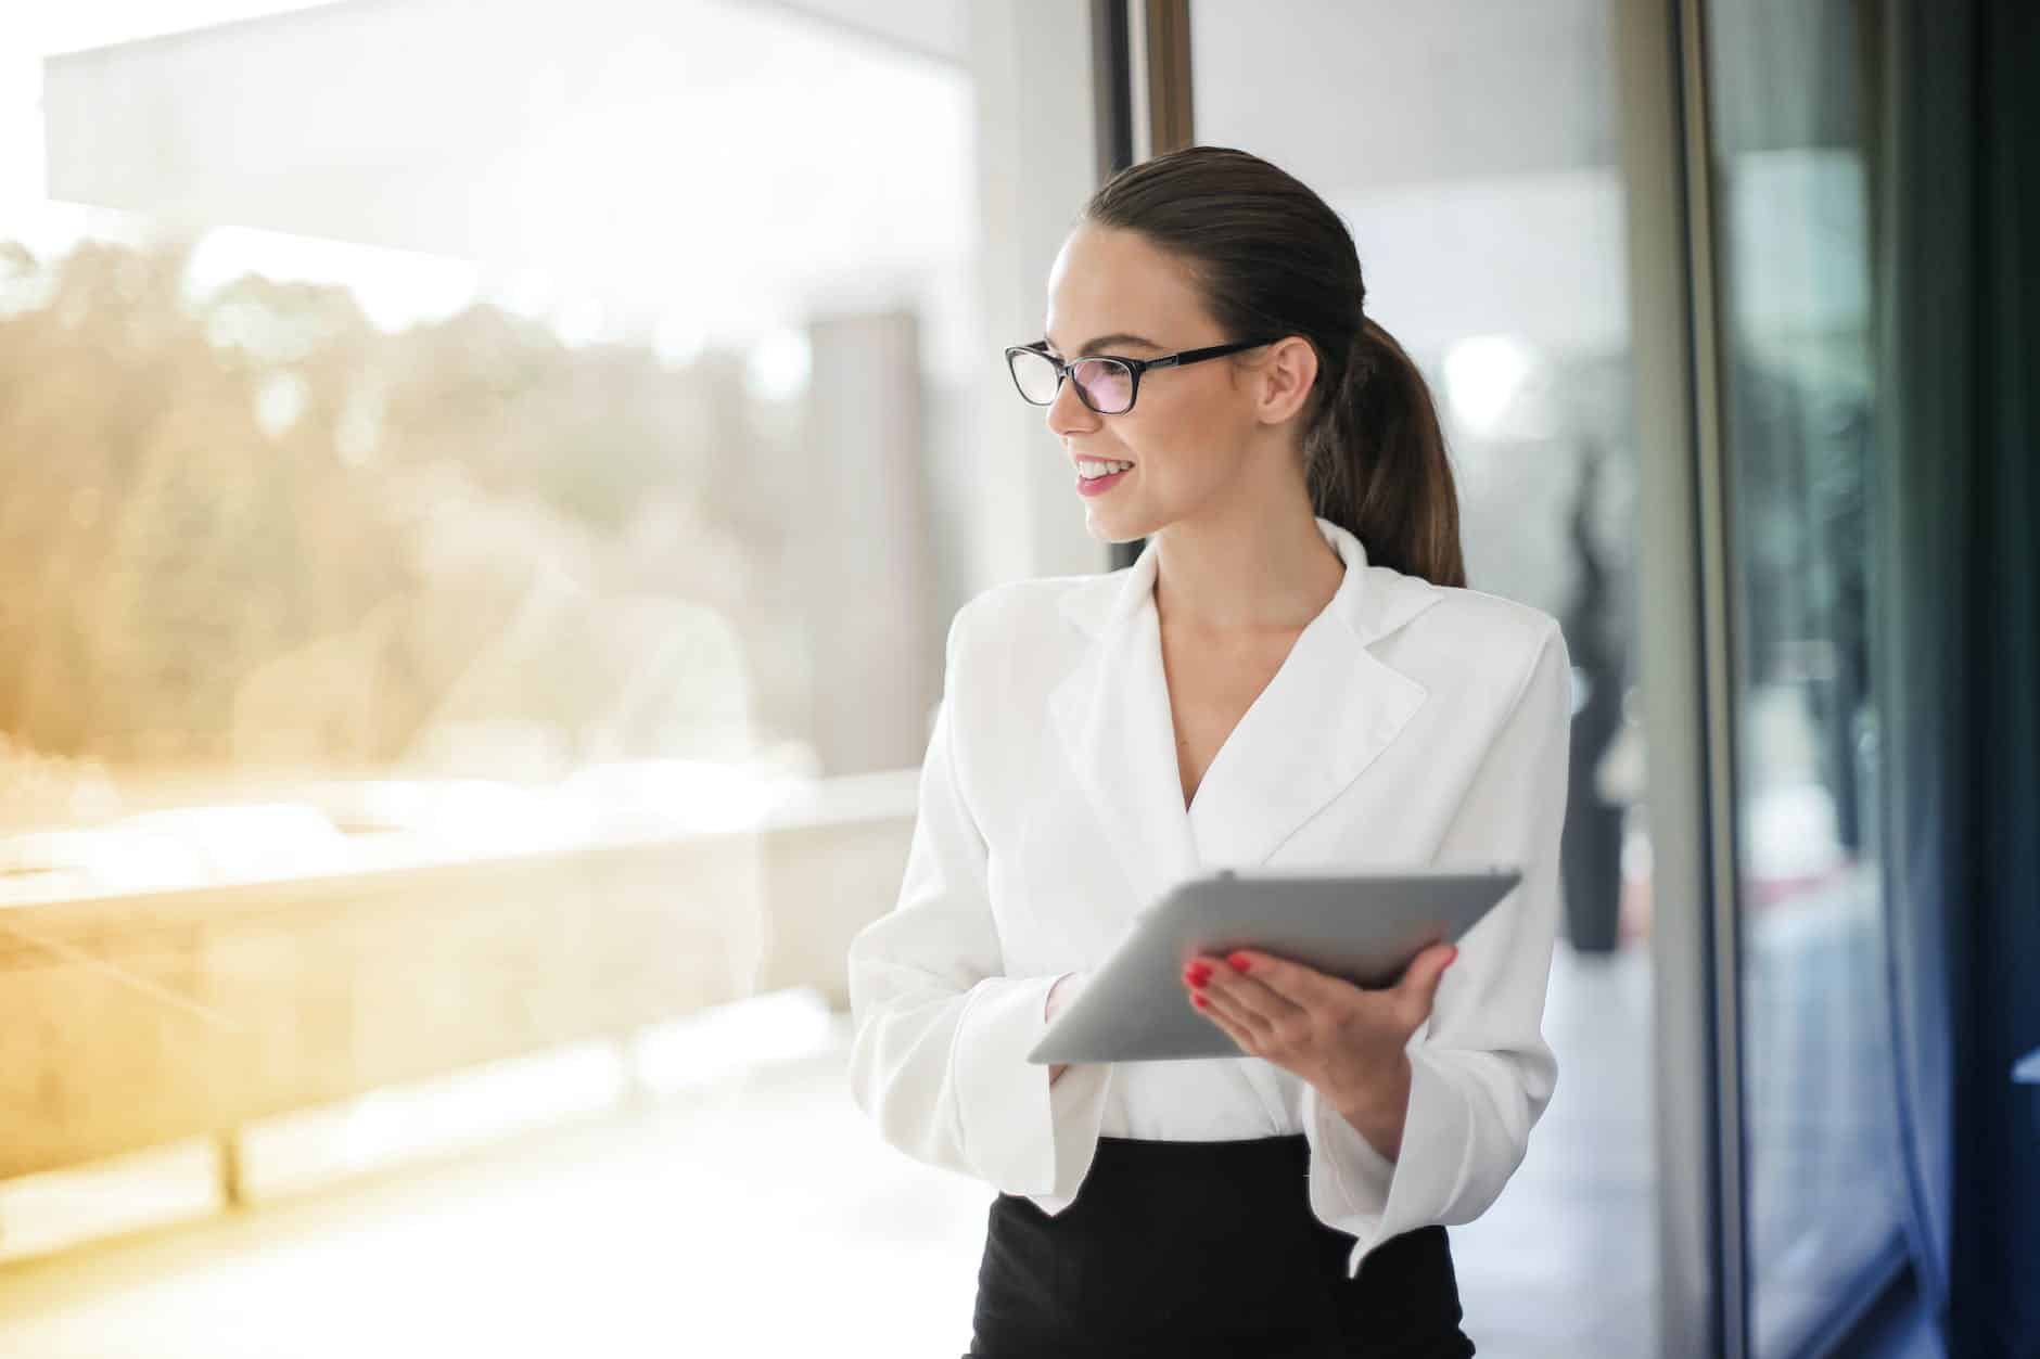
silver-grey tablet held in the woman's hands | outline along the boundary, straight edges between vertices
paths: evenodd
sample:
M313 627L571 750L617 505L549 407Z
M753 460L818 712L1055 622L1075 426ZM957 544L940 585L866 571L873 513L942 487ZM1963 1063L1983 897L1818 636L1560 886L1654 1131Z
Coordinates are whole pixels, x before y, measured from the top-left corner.
M1028 1061L1244 1057L1189 1004L1191 955L1259 949L1359 986L1395 986L1418 953L1457 943L1520 877L1501 867L1359 877L1261 867L1185 879L1134 916Z

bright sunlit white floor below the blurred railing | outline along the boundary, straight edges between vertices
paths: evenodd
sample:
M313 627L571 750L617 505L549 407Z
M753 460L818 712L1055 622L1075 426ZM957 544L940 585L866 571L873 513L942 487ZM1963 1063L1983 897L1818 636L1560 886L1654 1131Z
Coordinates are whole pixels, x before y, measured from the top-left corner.
M840 1063L0 1271L0 1353L945 1355L987 1194L879 1145Z

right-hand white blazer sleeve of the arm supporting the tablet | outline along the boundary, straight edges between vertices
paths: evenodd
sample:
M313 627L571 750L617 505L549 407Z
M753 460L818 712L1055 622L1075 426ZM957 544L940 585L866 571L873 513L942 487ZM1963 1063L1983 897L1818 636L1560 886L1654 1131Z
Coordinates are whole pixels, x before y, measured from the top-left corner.
M1559 1063L1544 1043L1544 990L1559 928L1559 833L1571 747L1571 659L1557 622L1524 673L1438 847L1440 863L1516 863L1522 882L1459 941L1430 1020L1412 1035L1410 1108L1389 1161L1318 1098L1302 1122L1310 1206L1353 1235L1348 1271L1401 1232L1471 1222L1522 1165Z

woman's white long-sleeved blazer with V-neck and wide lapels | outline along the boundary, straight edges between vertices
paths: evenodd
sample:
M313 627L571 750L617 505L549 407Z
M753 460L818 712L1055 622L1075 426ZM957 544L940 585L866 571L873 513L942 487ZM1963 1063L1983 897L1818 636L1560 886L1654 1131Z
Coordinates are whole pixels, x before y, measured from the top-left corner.
M949 624L942 700L898 904L849 949L851 1094L906 1155L1071 1204L1100 1135L1304 1132L1310 1208L1383 1241L1471 1222L1550 1102L1542 1035L1559 924L1571 665L1548 614L1346 565L1183 808L1155 610L1155 539L1118 571L993 586ZM1399 1159L1261 1057L1026 1061L1063 973L1218 867L1520 865L1461 939L1408 1045ZM1185 1002L1187 1004L1187 1002Z

